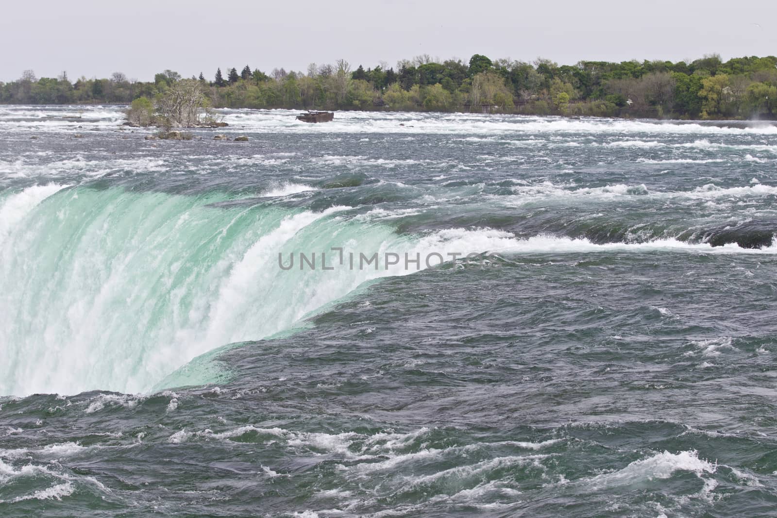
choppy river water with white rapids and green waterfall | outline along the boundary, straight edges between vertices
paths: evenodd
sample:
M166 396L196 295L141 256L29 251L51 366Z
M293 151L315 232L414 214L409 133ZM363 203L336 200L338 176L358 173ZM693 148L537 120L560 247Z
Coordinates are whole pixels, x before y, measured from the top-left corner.
M0 106L0 516L777 516L775 127L293 115Z

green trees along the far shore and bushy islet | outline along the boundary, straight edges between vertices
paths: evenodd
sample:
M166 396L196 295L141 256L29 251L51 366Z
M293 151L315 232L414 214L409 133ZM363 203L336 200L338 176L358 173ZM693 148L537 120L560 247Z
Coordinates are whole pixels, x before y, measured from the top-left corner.
M225 126L211 108L390 110L614 116L679 120L775 120L777 57L709 54L692 61L580 61L559 66L475 54L469 62L428 55L389 68L344 60L306 72L248 65L183 78L166 70L153 82L110 78L21 78L0 82L3 104L129 104L127 124Z

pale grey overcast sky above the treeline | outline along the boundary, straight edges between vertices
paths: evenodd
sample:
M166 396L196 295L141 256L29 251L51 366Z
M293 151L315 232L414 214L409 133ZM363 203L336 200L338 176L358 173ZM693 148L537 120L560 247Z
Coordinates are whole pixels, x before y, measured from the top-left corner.
M0 12L0 81L38 77L152 80L246 64L305 71L339 58L395 66L419 54L559 64L582 59L777 55L777 1L462 2L460 0L26 0Z

